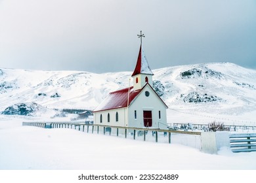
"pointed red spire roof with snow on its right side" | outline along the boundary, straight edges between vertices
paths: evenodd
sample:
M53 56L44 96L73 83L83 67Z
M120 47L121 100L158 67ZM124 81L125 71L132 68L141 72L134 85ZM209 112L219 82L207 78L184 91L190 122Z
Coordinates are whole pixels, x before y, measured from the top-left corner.
M154 75L148 65L148 61L146 60L146 56L144 54L142 44L140 44L139 56L137 59L137 64L135 70L133 71L133 75L146 74L146 75Z

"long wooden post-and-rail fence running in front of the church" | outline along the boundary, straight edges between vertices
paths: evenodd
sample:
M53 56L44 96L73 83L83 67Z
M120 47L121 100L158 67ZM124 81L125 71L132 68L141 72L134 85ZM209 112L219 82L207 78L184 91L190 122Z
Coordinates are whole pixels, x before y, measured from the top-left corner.
M201 132L198 131L176 131L169 129L151 129L151 128L139 128L139 127L121 127L121 126L110 126L110 125L96 125L96 124L77 124L77 123L69 123L69 122L23 122L22 125L30 125L36 127L45 127L45 128L70 128L77 129L79 131L87 131L87 133L99 133L100 128L103 131L103 134L106 135L114 135L112 133L112 129L116 129L116 136L119 136L119 130L123 129L124 136L127 138L127 133L130 131L131 135L133 135L133 139L136 139L136 133L138 135L142 135L144 141L146 141L146 134L148 131L152 131L152 135L155 138L155 141L158 142L158 136L160 133L163 133L164 136L168 136L168 142L171 143L171 133L181 133L186 135L201 135ZM90 129L91 128L91 129Z

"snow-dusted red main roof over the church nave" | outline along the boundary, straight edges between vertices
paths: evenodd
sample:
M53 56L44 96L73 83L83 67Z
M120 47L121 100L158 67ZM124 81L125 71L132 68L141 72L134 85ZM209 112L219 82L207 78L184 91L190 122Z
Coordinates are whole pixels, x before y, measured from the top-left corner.
M128 100L128 92L129 94L129 105L133 99L140 93L141 90L133 91L133 86L129 88L124 88L122 90L117 90L116 92L111 92L108 94L106 99L98 105L98 107L93 110L93 112L98 112L101 110L110 110L114 108L122 108L127 107L127 100Z

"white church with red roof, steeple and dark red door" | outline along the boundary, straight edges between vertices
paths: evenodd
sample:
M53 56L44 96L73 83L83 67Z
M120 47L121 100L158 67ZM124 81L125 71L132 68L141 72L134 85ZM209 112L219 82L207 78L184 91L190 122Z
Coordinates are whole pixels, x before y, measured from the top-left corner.
M121 127L167 129L167 105L152 88L154 75L142 48L133 74L133 86L108 94L106 99L93 110L94 123Z

